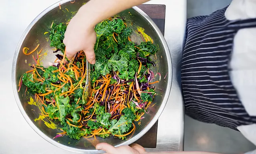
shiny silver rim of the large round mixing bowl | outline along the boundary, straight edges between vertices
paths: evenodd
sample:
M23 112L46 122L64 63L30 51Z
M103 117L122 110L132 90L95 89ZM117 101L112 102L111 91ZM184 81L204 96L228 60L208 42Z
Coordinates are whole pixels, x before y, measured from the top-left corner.
M29 26L26 28L26 30L24 31L24 33L22 34L18 45L16 47L15 50L15 54L14 54L14 58L12 61L12 89L13 89L13 93L14 93L14 97L16 100L16 103L18 105L18 108L20 110L20 112L22 113L22 116L25 118L26 122L30 125L30 127L42 138L44 138L44 140L50 142L51 144L53 144L54 146L57 146L58 148L62 148L64 150L67 151L71 151L71 152L76 152L76 153L90 153L90 154L98 154L98 153L103 153L102 150L86 150L86 149L79 149L79 148L73 148L73 147L69 147L66 146L64 144L58 143L55 140L53 140L52 138L48 137L46 134L44 134L33 122L32 120L29 118L29 116L26 114L26 111L24 110L22 103L20 101L20 98L18 96L18 88L17 88L17 81L16 81L16 68L17 68L17 59L18 59L18 54L20 52L20 49L22 48L21 45L24 41L24 39L26 38L26 36L28 35L28 32L32 29L32 27L36 24L36 22L38 22L38 20L40 20L40 18L42 18L45 14L47 14L50 10L56 8L59 6L59 4L65 4L67 2L69 2L70 0L61 0L59 2L56 2L54 4L52 4L51 6L49 6L48 8L46 8L44 11L42 11L38 16L36 16L36 18L34 18L34 20L29 24ZM138 8L137 6L132 7L135 11L137 11L139 14L141 14L141 16L143 16L147 22L149 24L151 24L151 26L155 29L157 35L159 36L161 43L163 44L163 48L165 49L165 54L166 54L166 58L167 58L167 66L168 66L168 76L167 76L167 87L166 87L166 92L165 95L163 97L163 101L161 106L159 107L157 113L155 114L155 116L153 117L153 119L149 122L149 124L143 129L141 130L141 132L139 132L137 135L131 137L129 140L116 145L115 147L118 146L123 146L123 145L129 145L132 144L133 142L135 142L136 140L138 140L139 138L141 138L154 124L155 122L158 120L159 116L161 115L161 113L163 112L163 109L165 108L167 101L169 99L169 94L171 92L171 85L172 85L172 74L173 74L173 69L172 69L172 61L171 61L171 54L169 52L169 48L167 45L167 42L163 36L163 34L161 33L161 31L159 30L159 28L156 26L156 24L153 22L153 20L151 20L151 18L145 14L145 12L143 12L140 8Z

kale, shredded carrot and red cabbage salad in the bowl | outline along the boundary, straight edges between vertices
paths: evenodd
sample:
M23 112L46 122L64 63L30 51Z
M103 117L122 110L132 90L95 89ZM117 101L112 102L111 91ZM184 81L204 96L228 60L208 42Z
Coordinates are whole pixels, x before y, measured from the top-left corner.
M66 28L67 24L53 23L49 30L50 46L62 52ZM157 47L151 42L131 42L132 30L121 18L100 22L95 32L96 63L91 65L93 90L89 100L85 96L86 56L83 52L79 52L73 62L58 54L56 57L61 62L56 66L37 65L36 70L23 74L21 82L38 100L32 99L29 103L42 102L44 117L59 122L63 134L70 138L117 136L125 139L131 133L133 122L147 110L139 106L153 101L156 94L148 84L147 73L152 65L150 56L157 52ZM139 82L136 79L140 79ZM144 89L149 90L140 95L139 90Z

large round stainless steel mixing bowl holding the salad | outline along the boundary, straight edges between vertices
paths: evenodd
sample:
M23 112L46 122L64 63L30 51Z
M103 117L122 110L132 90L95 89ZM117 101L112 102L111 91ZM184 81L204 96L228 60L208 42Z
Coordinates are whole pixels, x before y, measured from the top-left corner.
M32 55L24 55L22 53L22 48L28 47L32 49L36 47L37 44L40 44L39 50L43 48L43 51L47 52L47 56L42 60L42 64L44 66L47 66L48 62L53 62L55 60L55 54L52 53L52 47L49 46L50 41L48 41L48 36L44 35L44 32L50 29L52 21L54 21L55 23L67 22L67 20L70 19L71 16L73 16L74 12L77 11L84 2L85 1L83 0L76 0L74 4L71 4L70 0L62 0L60 1L62 8L61 10L59 8L59 3L56 3L44 10L32 21L32 23L28 26L28 28L22 35L20 42L18 43L18 46L16 48L12 66L12 86L16 102L22 115L24 116L28 124L40 136L42 136L42 138L52 143L53 145L63 148L65 150L92 154L102 152L95 150L95 145L99 142L107 142L109 144L112 144L113 146L128 145L143 136L153 126L153 124L155 124L161 112L163 111L165 104L167 103L168 96L171 90L172 66L169 49L165 42L165 39L155 23L149 18L149 16L147 16L137 7L133 7L119 13L118 15L125 18L128 25L131 25L131 22L133 23L131 26L133 31L137 29L137 26L143 27L145 29L145 33L151 36L154 43L159 46L159 51L156 54L157 60L155 60L156 67L153 68L153 72L159 72L162 77L161 81L155 84L158 93L154 101L152 102L152 104L155 105L153 107L151 105L148 108L149 113L145 114L145 118L141 120L140 125L135 122L136 130L127 137L127 140L120 140L119 138L114 137L105 139L98 137L97 140L95 140L94 138L81 138L80 140L74 140L69 138L69 136L64 136L53 140L52 138L56 136L56 133L61 131L58 129L48 128L42 120L38 120L35 122L34 119L38 118L40 110L37 106L28 104L28 95L24 97L26 87L22 86L20 92L18 92L18 82L20 76L22 76L24 72L31 70L28 64L34 64ZM135 42L141 42L142 39L140 34L134 32L131 35L131 40ZM36 53L34 55L36 55ZM163 77L165 76L165 74L167 74L167 77L164 79ZM158 76L156 78L158 78Z

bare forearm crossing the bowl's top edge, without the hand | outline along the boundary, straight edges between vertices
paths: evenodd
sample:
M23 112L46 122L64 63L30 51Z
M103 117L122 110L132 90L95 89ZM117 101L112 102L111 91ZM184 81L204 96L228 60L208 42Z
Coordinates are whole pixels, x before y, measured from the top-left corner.
M95 26L110 16L147 1L149 0L90 0L79 9L77 15L87 24Z

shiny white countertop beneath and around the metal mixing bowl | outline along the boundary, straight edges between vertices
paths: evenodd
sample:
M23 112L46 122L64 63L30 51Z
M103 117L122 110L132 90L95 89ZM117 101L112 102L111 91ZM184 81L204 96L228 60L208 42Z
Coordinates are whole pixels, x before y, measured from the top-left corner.
M12 91L12 59L22 33L32 20L58 0L2 0L0 16L0 154L75 154L41 138L23 118ZM184 109L180 87L180 62L185 35L186 0L151 0L165 4L165 39L173 65L173 83L165 110L158 121L157 148L147 151L183 150Z

